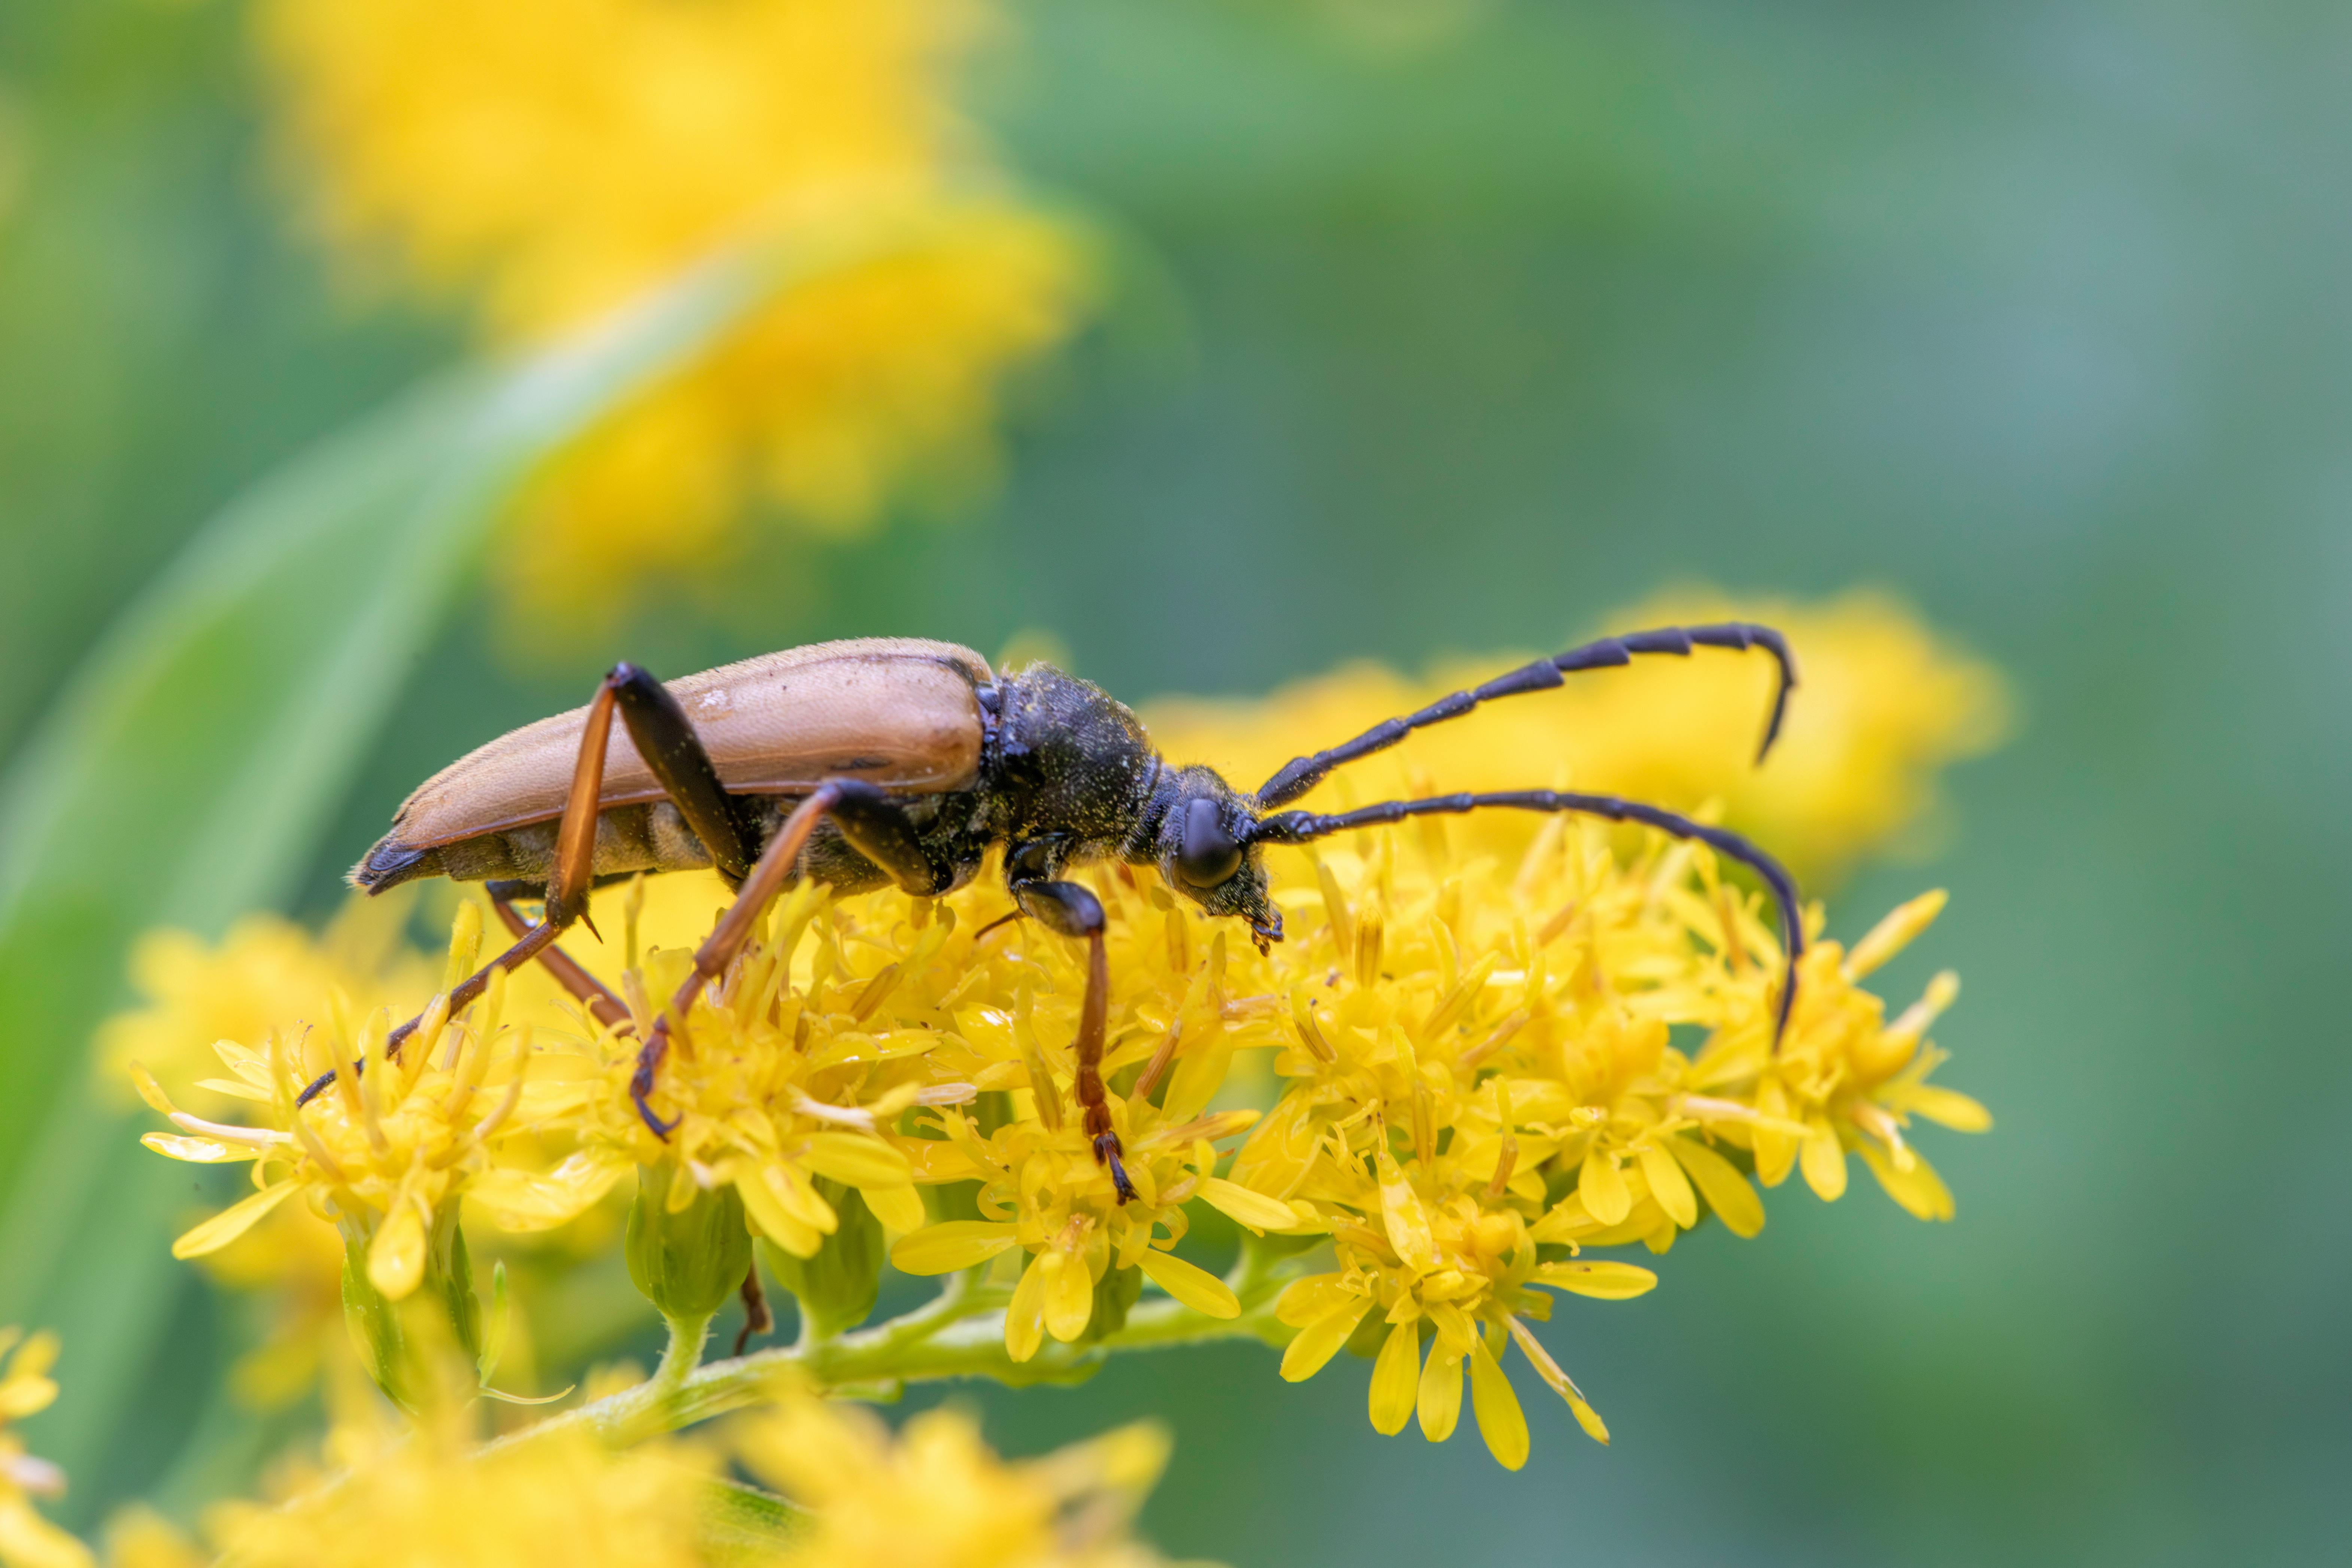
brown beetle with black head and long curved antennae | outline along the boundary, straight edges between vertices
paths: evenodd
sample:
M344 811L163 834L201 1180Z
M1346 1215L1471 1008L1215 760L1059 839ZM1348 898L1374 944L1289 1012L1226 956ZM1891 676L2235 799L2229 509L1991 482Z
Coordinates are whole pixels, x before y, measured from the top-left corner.
M1710 844L1771 889L1785 954L1773 1016L1778 1046L1804 952L1797 889L1771 856L1736 832L1642 802L1569 790L1435 795L1338 813L1287 809L1334 769L1479 703L1545 691L1578 670L1625 665L1644 654L1689 656L1700 646L1764 649L1776 661L1762 762L1780 733L1797 663L1780 632L1726 621L1604 637L1538 658L1331 750L1294 757L1254 792L1235 790L1216 769L1162 759L1136 715L1101 686L1047 663L1000 675L950 642L821 642L668 684L623 663L586 708L501 736L419 785L393 816L393 830L350 870L350 882L369 893L419 877L487 882L517 940L461 983L449 1006L480 997L492 971L539 959L600 1020L619 1025L628 1011L567 959L555 938L588 917L588 891L600 879L717 870L736 898L696 950L673 1006L647 1032L630 1084L637 1114L668 1138L675 1121L654 1110L652 1095L670 1030L682 1027L677 1020L696 994L727 971L786 884L814 877L840 893L896 884L938 896L971 882L988 851L1002 846L1016 914L1089 947L1073 1041L1077 1100L1094 1157L1124 1204L1134 1187L1120 1164L1101 1077L1110 1001L1103 905L1063 877L1089 860L1157 867L1169 889L1209 914L1247 922L1263 950L1282 940L1282 912L1265 889L1270 844L1482 809L1644 823ZM614 712L621 733L614 733ZM536 924L515 910L517 898L541 900ZM388 1051L397 1053L414 1027L395 1030ZM310 1084L303 1100L332 1077Z

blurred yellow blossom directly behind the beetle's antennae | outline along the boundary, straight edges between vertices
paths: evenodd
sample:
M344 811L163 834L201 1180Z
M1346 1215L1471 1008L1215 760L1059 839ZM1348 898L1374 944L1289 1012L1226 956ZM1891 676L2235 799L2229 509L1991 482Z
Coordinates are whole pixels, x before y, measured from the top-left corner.
M1606 625L1726 618L1776 625L1797 651L1802 684L1762 769L1755 750L1771 712L1771 658L1700 649L1686 661L1637 658L1621 670L1571 675L1557 691L1489 703L1341 769L1305 799L1573 788L1675 811L1722 802L1729 827L1771 849L1802 879L1835 882L1860 856L1933 830L1936 773L1990 750L2009 724L1999 672L1877 592L1816 604L1675 592L1609 616ZM1256 788L1301 752L1336 745L1526 658L1446 658L1428 679L1352 665L1261 701L1155 703L1145 719L1171 759L1211 762L1240 788ZM1465 849L1517 856L1536 820L1489 811L1456 832Z

